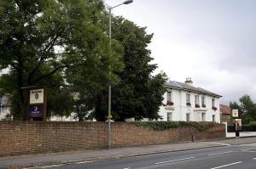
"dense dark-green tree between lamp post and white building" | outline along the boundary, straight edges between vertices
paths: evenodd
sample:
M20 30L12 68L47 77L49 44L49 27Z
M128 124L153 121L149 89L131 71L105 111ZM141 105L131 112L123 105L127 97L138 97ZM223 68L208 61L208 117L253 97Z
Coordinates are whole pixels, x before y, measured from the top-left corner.
M147 34L145 27L139 27L122 17L113 19L113 39L124 48L124 70L113 72L119 76L119 84L112 88L112 114L114 121L143 118L159 119L158 111L165 93L160 75L152 76L156 65L148 49L153 35ZM97 97L96 119L106 120L108 116L108 91Z

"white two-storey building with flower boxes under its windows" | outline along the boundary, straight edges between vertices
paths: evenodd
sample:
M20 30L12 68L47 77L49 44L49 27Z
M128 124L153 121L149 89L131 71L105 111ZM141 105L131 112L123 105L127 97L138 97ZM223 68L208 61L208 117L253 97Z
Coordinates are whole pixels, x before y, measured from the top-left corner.
M222 96L194 87L191 78L186 82L166 82L167 92L160 107L162 121L220 122L219 98Z

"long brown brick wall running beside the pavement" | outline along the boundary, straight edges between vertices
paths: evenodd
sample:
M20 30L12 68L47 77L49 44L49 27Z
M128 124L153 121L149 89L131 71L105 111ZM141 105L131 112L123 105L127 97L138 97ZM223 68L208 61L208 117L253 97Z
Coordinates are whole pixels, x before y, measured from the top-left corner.
M167 144L224 138L223 125L207 132L194 128L154 131L127 122L112 123L112 147ZM81 149L105 149L108 145L106 122L0 121L0 157L33 155Z

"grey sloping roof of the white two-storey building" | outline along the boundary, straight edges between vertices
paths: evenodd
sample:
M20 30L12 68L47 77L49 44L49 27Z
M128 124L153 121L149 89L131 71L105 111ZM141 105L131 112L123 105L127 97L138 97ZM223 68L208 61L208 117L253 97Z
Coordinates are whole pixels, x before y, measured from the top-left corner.
M170 82L166 82L165 85L167 87L177 88L177 89L181 89L181 90L185 90L185 91L189 91L189 92L206 94L206 95L210 95L210 96L217 97L217 98L222 97L221 95L219 95L217 93L212 93L212 92L210 92L206 89L203 89L201 87L193 87L193 86L183 83L183 82L170 81Z

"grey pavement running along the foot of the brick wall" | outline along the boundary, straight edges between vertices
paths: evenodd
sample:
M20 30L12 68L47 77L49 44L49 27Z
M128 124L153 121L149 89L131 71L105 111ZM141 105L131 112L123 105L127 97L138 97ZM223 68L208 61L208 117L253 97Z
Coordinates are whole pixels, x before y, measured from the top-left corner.
M218 141L206 141L182 144L159 144L120 149L99 149L91 151L67 152L55 155L37 155L26 157L13 157L12 159L0 159L0 168L9 166L46 166L53 164L72 163L79 161L99 161L107 159L118 159L137 155L151 155L164 152L182 151L189 149L205 149L226 145L256 143L256 138L225 139Z

